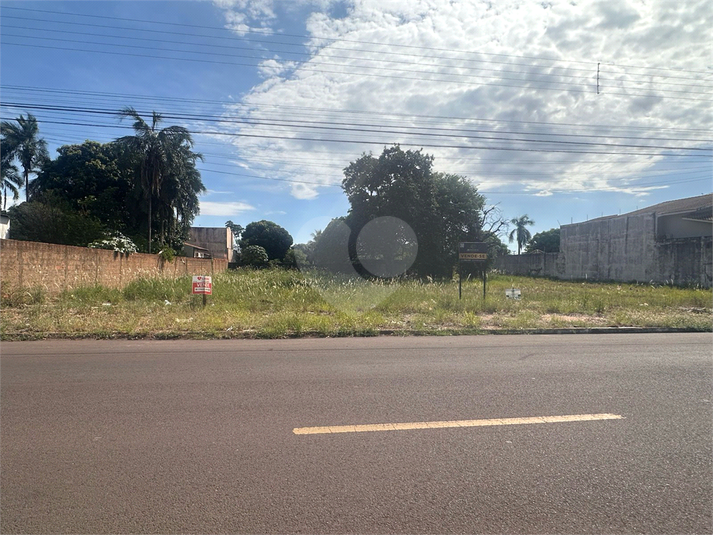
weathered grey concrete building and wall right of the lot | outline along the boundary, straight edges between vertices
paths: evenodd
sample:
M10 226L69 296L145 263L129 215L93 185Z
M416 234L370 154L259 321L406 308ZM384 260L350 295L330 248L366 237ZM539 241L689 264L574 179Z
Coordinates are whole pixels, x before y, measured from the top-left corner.
M498 269L559 279L713 286L713 195L560 227L560 252L508 255Z

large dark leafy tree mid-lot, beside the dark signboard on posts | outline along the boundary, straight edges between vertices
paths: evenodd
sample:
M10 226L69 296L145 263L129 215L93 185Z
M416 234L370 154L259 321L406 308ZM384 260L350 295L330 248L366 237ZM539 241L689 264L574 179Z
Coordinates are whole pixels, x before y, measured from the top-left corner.
M364 154L344 170L342 187L351 205L350 256L358 261L357 236L371 220L394 217L416 234L418 253L411 270L419 277L450 277L459 241L482 241L497 225L484 229L485 199L465 177L433 170L433 157L385 148L375 158Z

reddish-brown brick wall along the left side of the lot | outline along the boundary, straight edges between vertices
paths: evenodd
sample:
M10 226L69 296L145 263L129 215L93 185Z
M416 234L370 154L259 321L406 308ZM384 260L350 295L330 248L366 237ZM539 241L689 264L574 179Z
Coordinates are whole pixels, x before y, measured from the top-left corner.
M97 284L121 288L141 277L212 275L227 269L226 259L176 257L173 262L165 262L158 255L123 255L104 249L0 240L3 291L40 286L56 294Z

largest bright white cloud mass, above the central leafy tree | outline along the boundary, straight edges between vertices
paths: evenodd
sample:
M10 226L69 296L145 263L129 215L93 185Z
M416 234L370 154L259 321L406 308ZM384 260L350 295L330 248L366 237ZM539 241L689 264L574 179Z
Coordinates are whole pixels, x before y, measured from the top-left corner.
M279 22L271 1L223 3ZM710 2L352 0L339 18L333 2L299 5L313 9L309 61L263 62L269 78L230 108L263 123L236 127L262 136L236 138L243 162L310 182L291 186L299 199L394 142L482 190L640 195L661 187L657 163L677 169L659 147L710 137L708 79L683 72L713 73Z

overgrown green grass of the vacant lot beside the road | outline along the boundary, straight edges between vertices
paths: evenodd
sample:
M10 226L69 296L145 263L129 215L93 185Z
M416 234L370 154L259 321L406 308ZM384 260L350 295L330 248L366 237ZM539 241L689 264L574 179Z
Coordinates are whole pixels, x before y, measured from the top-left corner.
M3 340L45 337L281 338L473 334L557 328L713 330L713 292L649 284L491 276L481 281L369 282L298 271L216 275L203 308L191 279L145 279L125 288L81 288L50 297L3 291ZM507 299L507 288L522 299Z

